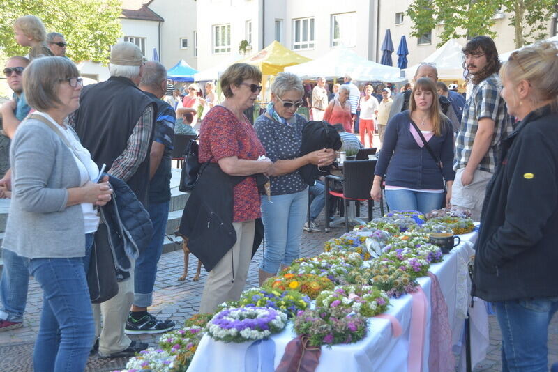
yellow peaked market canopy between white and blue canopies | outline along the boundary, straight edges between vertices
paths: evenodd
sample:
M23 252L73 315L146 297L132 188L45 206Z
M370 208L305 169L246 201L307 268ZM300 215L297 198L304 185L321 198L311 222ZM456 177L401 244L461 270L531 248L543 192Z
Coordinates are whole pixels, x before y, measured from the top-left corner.
M273 40L273 42L264 49L245 59L241 59L238 63L255 65L262 71L263 75L277 75L279 72L283 72L288 66L298 65L299 63L308 61L312 61L312 59L301 56L283 47L277 40Z

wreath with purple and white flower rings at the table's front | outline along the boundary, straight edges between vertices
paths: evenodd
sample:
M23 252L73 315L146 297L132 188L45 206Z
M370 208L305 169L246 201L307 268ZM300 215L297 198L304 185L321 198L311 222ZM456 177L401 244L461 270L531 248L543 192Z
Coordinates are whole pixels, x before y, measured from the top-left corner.
M287 324L287 314L271 307L229 308L213 316L207 334L223 342L246 342L265 339Z

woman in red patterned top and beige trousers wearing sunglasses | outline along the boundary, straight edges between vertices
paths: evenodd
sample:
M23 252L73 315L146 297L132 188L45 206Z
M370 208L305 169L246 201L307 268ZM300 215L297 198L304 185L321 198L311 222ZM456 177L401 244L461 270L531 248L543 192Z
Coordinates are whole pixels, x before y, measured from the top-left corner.
M271 160L265 155L254 128L243 111L253 107L261 91L262 72L246 63L231 65L221 77L225 100L209 110L199 133L199 162L216 162L230 176L271 173ZM213 157L213 158L211 158ZM239 300L246 284L252 258L255 219L260 217L256 181L247 177L233 189L233 223L236 243L209 272L199 312L211 313L217 305ZM231 263L234 262L234 265ZM233 272L234 270L234 272ZM231 277L234 274L234 283Z

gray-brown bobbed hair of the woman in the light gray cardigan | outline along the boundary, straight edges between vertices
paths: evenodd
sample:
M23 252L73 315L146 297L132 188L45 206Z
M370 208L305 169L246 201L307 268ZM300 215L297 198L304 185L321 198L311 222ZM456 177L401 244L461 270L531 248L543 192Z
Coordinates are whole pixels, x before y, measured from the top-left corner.
M23 91L30 107L47 111L62 104L56 90L61 81L78 77L72 61L63 57L33 59L23 70Z

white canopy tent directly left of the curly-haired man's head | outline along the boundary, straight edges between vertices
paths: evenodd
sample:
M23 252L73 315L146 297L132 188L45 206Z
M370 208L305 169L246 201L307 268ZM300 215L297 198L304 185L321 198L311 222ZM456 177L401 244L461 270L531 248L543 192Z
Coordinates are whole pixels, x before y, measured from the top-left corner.
M436 52L426 57L423 63L435 63L438 79L463 79L463 47L455 40L446 41ZM405 69L405 76L412 80L418 65Z

